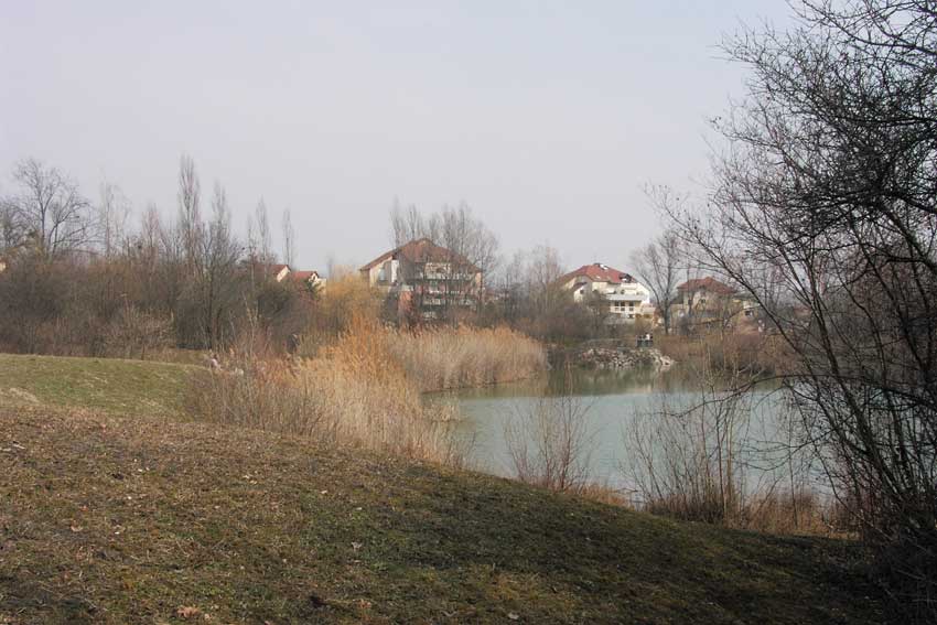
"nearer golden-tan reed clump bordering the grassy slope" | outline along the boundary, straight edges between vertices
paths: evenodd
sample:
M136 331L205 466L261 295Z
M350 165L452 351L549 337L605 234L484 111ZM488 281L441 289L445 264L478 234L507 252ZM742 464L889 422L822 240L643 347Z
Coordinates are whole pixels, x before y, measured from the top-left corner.
M388 333L362 317L315 358L240 352L227 371L193 382L189 406L214 422L408 459L460 465L467 452L454 407L424 405L390 355Z

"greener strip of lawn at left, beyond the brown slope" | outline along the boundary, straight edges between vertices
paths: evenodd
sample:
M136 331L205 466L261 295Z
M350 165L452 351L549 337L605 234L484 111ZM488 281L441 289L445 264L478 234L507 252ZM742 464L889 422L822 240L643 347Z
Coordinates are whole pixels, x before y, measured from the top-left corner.
M180 414L189 365L0 354L0 402Z

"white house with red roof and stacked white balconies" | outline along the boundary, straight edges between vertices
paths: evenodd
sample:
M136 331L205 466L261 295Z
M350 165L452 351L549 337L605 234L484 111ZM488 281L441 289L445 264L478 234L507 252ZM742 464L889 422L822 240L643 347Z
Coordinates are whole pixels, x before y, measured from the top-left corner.
M629 273L607 265L583 265L560 278L558 283L571 290L577 302L586 302L597 297L607 323L634 323L639 319L654 319L650 291Z

